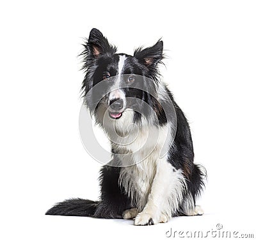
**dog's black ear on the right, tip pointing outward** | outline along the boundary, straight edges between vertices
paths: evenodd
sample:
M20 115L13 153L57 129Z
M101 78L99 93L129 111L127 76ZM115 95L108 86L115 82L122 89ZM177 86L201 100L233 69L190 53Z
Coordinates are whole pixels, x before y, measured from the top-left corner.
M156 67L157 63L163 59L163 41L157 41L152 47L144 49L141 47L137 48L134 51L134 57L148 68L150 68L150 66Z

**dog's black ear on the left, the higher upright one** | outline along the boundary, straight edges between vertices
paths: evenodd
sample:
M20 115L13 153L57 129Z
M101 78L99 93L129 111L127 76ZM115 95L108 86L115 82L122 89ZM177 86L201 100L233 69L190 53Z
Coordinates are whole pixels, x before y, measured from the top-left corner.
M116 52L116 47L109 45L107 38L98 29L92 29L88 42L84 47L87 48L87 55L90 58L98 58L101 55L113 55Z

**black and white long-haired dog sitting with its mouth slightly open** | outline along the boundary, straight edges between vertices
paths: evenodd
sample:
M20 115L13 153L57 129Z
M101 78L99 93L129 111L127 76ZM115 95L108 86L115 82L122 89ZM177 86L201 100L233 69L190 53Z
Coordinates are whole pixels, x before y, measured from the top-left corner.
M116 54L92 29L82 55L84 104L108 136L112 159L100 171L99 201L66 200L46 214L134 219L135 225L202 215L195 201L206 172L193 163L188 121L159 79L163 41L133 56Z

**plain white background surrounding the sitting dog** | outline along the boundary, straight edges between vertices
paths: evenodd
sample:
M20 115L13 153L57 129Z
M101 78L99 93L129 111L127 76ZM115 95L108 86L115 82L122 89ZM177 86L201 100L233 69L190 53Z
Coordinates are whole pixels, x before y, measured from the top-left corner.
M171 227L218 223L253 233L255 11L255 1L1 2L1 240L166 240ZM205 215L147 227L44 215L65 198L99 196L100 164L78 131L77 55L92 27L127 54L163 37L164 81L189 119L195 162L208 171L198 201Z

